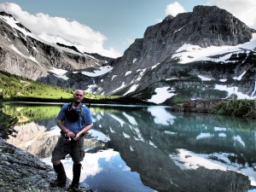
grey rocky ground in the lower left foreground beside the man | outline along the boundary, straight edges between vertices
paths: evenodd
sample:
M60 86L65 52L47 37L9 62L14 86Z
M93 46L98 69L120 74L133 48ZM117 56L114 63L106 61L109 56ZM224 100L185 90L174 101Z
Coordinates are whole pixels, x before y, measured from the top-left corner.
M53 179L55 171L51 166L0 138L0 192L68 191L67 188L50 187L49 182ZM67 186L69 183L70 180Z

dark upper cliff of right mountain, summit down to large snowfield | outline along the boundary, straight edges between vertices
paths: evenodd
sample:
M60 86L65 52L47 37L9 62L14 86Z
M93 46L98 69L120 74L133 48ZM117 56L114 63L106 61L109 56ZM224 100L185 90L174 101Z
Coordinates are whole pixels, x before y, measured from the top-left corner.
M202 48L244 44L252 38L252 32L253 29L224 9L196 6L193 12L176 17L168 15L162 22L148 26L143 40L136 40L125 51L125 69L152 67L166 60L183 44Z

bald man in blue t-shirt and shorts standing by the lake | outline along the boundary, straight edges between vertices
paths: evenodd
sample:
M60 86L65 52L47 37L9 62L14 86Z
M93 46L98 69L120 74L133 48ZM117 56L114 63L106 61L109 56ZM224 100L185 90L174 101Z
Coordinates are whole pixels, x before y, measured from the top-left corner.
M90 109L82 106L83 99L84 91L75 90L73 102L64 104L56 118L56 124L61 129L61 137L52 152L51 159L57 179L50 184L59 187L66 186L67 176L61 160L70 154L73 160L73 181L69 186L71 191L79 191L80 162L84 160L84 133L92 126Z

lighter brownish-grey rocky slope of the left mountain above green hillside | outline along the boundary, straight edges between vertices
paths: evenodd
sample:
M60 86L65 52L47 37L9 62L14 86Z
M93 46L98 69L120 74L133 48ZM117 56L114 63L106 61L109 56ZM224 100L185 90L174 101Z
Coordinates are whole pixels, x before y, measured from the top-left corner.
M0 15L13 18L1 12ZM15 18L13 18L15 20ZM23 32L9 26L7 20L0 18L0 67L1 70L28 79L41 80L46 83L60 85L59 80L48 81L49 69L61 68L67 71L80 70L87 67L98 67L105 64L105 60L96 59L89 54L76 52L61 44L45 44L36 38L20 23L16 24L28 32ZM66 50L65 50L66 49ZM54 79L51 77L50 79ZM68 86L68 82L61 83Z

